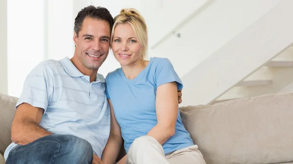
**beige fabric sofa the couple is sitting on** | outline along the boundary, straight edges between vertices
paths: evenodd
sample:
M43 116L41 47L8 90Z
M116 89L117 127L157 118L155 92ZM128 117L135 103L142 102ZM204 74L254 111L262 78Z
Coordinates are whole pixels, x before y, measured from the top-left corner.
M16 102L0 94L0 164ZM180 115L207 164L293 164L293 93L181 107Z

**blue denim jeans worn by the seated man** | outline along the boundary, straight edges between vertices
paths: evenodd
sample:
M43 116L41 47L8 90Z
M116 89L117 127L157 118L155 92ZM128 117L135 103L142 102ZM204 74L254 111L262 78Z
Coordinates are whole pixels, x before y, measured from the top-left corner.
M9 152L6 164L91 164L92 146L73 135L52 134Z

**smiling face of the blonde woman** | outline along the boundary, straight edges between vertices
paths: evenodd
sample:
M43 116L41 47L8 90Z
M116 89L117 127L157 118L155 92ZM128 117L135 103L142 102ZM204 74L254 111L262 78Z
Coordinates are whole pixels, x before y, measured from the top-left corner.
M142 59L142 45L130 24L119 24L114 29L112 50L121 66L134 65Z

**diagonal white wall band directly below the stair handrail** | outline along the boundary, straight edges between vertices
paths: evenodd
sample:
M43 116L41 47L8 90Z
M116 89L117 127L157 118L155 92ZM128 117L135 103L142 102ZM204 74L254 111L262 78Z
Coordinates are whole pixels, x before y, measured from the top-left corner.
M168 57L183 77L281 1L216 0L178 30L181 37L169 36L149 55Z

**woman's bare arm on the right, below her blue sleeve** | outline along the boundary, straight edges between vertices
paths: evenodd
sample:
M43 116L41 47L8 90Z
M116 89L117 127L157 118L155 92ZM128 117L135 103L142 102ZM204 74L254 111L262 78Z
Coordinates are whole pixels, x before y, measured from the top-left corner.
M160 85L156 95L156 113L158 123L146 134L163 145L175 133L178 114L177 83Z

